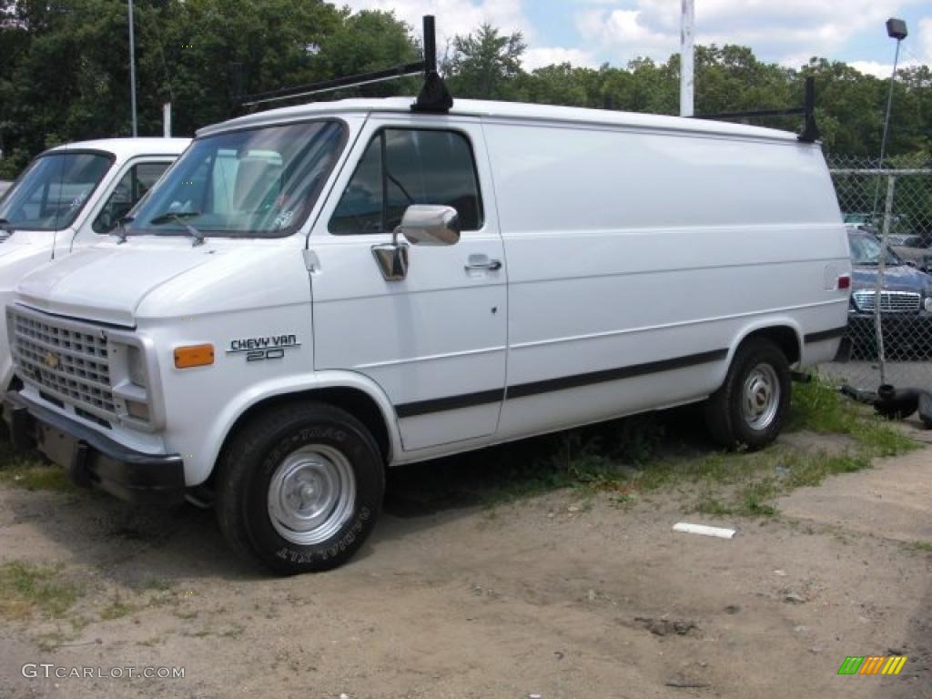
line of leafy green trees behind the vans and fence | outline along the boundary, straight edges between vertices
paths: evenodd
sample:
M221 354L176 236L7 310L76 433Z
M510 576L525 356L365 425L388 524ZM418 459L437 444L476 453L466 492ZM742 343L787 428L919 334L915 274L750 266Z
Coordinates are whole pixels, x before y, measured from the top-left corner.
M0 177L49 145L130 133L126 0L0 0ZM234 92L260 92L418 59L412 28L385 12L351 13L324 0L135 0L139 130L191 134L235 113ZM679 57L597 70L522 67L520 33L488 24L454 38L442 70L454 98L519 100L677 114ZM816 116L830 154L876 156L888 80L814 58L800 70L761 62L750 48L696 48L696 112L802 103L816 79ZM932 154L932 71L900 70L887 153ZM241 85L237 85L237 83ZM408 78L313 99L417 92ZM307 99L307 98L303 98ZM798 117L755 123L800 128Z

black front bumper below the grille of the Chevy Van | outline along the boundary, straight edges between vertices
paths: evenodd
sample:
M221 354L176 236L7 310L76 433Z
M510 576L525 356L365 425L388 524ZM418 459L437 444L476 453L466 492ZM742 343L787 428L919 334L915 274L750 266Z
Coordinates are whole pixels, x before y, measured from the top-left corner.
M135 451L15 391L7 392L3 417L14 448L37 448L78 486L100 487L130 502L185 500L185 461L177 454Z

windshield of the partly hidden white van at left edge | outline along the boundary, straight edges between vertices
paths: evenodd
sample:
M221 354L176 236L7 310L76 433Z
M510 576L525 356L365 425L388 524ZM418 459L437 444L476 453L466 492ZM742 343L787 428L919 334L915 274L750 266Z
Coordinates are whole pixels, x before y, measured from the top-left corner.
M14 229L71 226L113 161L112 156L87 151L56 151L35 158L0 200L0 219Z

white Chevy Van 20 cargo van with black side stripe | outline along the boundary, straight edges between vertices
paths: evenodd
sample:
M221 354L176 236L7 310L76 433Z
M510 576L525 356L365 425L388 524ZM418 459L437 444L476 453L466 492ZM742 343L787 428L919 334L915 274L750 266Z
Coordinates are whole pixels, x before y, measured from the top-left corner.
M384 470L706 402L770 443L851 266L818 144L406 99L200 130L111 237L21 281L18 445L130 500L213 493L270 569L359 549Z

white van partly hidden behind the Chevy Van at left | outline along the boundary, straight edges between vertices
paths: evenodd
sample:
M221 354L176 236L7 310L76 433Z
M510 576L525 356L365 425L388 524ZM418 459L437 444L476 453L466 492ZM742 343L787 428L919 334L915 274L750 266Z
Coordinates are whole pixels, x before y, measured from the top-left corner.
M0 199L0 304L49 260L101 240L181 155L190 139L117 138L60 145L37 156ZM0 328L0 387L13 365Z

